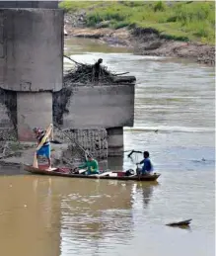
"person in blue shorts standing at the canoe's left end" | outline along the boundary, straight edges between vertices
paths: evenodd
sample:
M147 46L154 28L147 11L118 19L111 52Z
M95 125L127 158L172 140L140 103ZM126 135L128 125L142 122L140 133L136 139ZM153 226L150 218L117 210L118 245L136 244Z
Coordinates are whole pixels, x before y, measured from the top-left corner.
M42 128L34 128L33 129L36 134L36 141L37 145L41 142L43 136L45 135L45 130ZM36 151L36 158L38 159L38 156L44 156L48 160L48 168L51 168L51 158L50 158L51 150L50 150L50 141L48 138L46 138L43 145Z

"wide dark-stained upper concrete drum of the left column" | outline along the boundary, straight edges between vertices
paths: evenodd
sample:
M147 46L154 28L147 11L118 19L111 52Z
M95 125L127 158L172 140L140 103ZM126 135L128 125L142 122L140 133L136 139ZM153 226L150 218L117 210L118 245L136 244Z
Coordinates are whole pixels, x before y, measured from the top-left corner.
M58 91L63 76L63 11L0 9L0 87Z

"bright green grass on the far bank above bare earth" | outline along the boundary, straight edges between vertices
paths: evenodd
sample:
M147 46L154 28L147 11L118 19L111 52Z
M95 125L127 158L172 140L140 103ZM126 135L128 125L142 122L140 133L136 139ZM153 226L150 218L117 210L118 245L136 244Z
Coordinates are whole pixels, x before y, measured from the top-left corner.
M63 1L66 12L87 11L89 27L156 29L167 38L215 43L214 2Z

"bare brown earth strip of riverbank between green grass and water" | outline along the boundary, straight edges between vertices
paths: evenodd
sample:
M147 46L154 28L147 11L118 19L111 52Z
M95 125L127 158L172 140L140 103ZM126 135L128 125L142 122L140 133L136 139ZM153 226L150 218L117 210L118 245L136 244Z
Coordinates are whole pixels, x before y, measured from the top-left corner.
M76 28L66 24L68 37L97 39L112 46L128 47L141 55L182 57L215 65L215 47L203 43L188 43L160 38L157 32L108 28Z

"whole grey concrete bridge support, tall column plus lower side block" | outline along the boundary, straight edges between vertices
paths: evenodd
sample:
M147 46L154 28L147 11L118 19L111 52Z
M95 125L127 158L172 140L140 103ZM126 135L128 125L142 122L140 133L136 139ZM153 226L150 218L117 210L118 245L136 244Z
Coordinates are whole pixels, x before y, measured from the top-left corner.
M108 155L116 155L123 127L133 126L134 84L62 88L63 22L58 1L0 1L0 139L16 130L30 141L34 127L52 122L106 128Z

